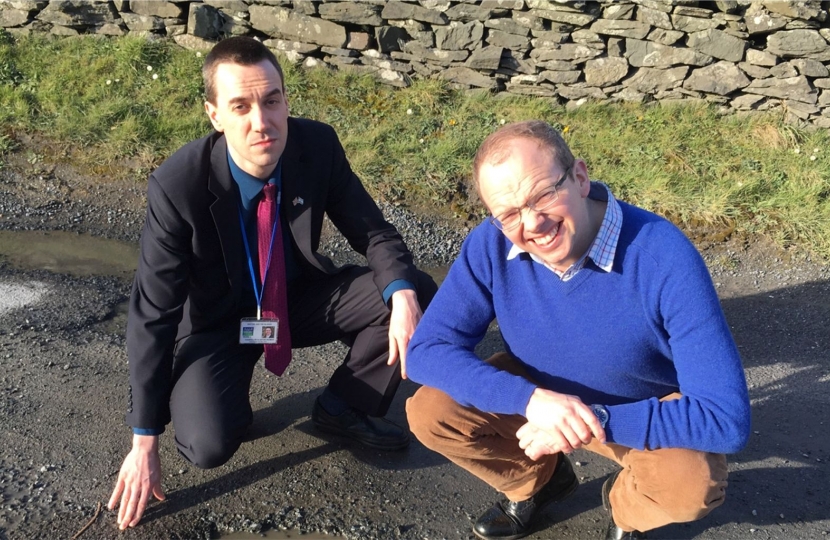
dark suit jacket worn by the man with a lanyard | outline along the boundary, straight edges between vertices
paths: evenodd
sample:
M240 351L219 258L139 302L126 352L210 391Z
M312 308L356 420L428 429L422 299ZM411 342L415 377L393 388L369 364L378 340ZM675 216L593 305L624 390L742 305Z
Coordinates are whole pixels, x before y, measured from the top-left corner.
M178 340L235 329L241 317L256 314L249 285L249 294L242 294L251 278L227 159L224 135L213 133L182 147L150 175L127 323L127 423L133 427L157 429L170 421ZM366 256L379 294L396 279L417 281L411 254L352 172L330 126L288 119L282 182L281 214L304 273L338 271L317 253L328 214ZM296 197L302 204L292 204Z

